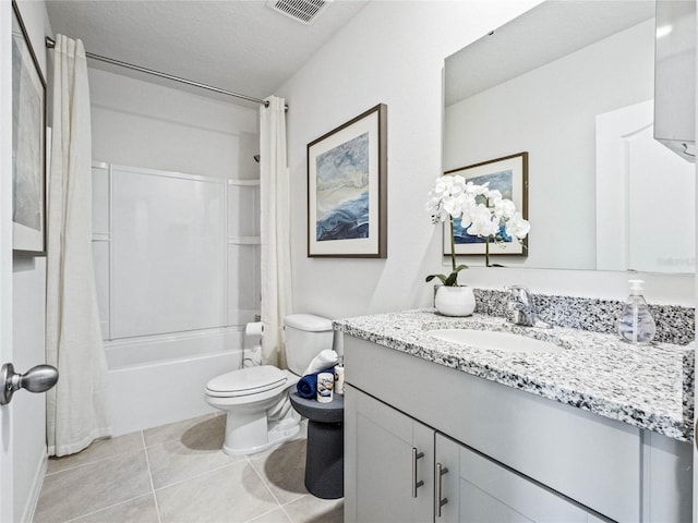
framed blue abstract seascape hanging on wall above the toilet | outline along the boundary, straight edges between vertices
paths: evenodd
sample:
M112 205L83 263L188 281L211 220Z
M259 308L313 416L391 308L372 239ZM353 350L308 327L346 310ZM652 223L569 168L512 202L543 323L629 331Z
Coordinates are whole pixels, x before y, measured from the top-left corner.
M308 144L308 256L387 257L387 106Z

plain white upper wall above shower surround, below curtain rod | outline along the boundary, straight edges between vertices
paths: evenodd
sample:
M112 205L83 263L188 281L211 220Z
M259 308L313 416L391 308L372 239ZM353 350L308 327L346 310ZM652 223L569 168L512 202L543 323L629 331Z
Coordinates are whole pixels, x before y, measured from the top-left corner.
M88 69L93 159L256 179L257 109ZM177 84L174 84L177 85Z

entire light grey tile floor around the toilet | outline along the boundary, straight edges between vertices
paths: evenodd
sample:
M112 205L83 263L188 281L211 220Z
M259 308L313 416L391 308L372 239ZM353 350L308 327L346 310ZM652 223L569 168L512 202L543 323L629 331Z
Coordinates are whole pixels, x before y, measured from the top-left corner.
M93 443L50 459L34 523L333 523L342 500L303 486L305 435L230 457L215 414ZM305 423L303 423L305 429Z

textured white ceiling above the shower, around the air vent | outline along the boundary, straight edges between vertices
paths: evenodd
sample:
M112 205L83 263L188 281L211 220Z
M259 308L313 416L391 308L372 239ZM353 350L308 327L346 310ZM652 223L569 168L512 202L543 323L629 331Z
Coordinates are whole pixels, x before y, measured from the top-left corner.
M88 53L266 98L366 3L330 0L310 25L265 0L47 0L46 5L53 33L82 39ZM250 105L96 60L89 65Z

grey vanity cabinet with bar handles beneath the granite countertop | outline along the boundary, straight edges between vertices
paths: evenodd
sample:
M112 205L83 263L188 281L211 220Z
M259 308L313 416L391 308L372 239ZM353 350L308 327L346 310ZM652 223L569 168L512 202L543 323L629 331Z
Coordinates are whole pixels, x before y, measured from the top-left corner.
M690 521L690 443L351 336L344 351L346 522Z

